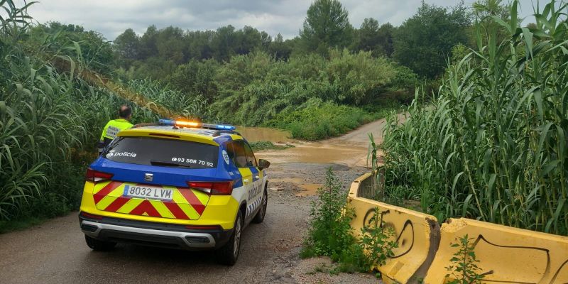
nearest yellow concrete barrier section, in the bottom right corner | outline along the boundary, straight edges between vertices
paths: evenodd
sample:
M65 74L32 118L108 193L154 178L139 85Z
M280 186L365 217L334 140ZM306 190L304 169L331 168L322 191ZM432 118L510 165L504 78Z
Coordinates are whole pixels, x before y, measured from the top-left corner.
M442 224L436 257L424 283L447 283L452 248L466 235L474 239L482 283L568 283L568 237L544 234L471 219Z

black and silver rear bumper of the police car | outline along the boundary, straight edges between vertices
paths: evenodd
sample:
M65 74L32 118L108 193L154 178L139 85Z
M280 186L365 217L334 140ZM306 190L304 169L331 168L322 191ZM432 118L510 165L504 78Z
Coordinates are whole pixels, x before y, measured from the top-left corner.
M140 222L102 217L94 219L79 214L81 230L101 241L157 246L168 249L218 249L229 240L232 230L187 229L182 225Z

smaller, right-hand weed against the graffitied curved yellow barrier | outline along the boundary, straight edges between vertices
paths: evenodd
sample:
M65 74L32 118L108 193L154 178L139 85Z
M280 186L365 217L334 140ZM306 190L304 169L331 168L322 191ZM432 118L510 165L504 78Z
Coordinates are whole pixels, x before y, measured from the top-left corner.
M359 244L368 256L367 270L383 266L388 258L394 256L393 249L398 248L395 230L386 226L382 220L381 211L375 208L375 214L369 219L369 225L361 228Z

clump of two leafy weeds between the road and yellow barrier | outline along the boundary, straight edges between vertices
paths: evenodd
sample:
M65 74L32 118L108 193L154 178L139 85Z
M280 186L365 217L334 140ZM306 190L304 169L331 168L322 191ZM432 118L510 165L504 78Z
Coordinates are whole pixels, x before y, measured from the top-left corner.
M330 168L324 187L318 190L318 201L312 203L310 229L300 257L329 256L339 263L330 273L368 272L384 265L398 246L393 229L384 226L378 212L362 229L361 239L356 239L350 226L353 214L346 206L346 192Z

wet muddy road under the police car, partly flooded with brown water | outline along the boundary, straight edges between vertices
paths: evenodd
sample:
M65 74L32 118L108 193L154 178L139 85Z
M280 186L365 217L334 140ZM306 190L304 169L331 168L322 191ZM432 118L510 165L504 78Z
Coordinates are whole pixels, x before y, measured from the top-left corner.
M371 275L317 273L329 261L298 255L312 191L324 182L325 170L332 167L348 187L366 172L367 133L378 142L382 126L375 121L339 138L258 153L272 162L268 212L265 222L245 229L233 267L219 266L212 253L131 245L91 251L74 212L0 235L0 283L376 283Z

